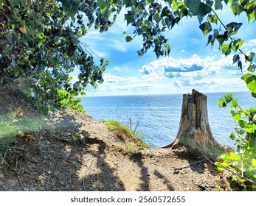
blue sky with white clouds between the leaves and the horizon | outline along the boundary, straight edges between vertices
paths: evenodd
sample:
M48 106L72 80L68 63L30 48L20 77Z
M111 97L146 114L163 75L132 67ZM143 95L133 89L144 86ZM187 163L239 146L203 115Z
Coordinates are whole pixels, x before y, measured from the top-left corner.
M90 29L81 38L97 56L110 61L103 84L96 89L88 86L87 96L189 93L193 88L202 93L248 91L241 80L241 70L232 65L232 55L221 55L217 41L212 47L206 46L208 35L204 37L196 17L183 18L165 33L170 55L157 59L152 49L138 57L136 51L142 46L142 38L126 43L122 34L127 30L123 14L124 10L108 32ZM242 50L256 52L256 24L248 23L246 15L234 17L229 7L224 7L219 16L224 24L242 22L238 31L239 38L244 40Z

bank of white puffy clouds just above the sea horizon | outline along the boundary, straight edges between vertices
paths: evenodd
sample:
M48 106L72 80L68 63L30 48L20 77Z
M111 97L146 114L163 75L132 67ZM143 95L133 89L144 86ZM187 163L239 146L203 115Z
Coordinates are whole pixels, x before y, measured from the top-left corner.
M232 56L220 59L196 54L187 59L164 57L143 65L133 77L108 73L103 78L103 85L94 95L187 93L193 88L201 92L246 90L241 71L232 65Z

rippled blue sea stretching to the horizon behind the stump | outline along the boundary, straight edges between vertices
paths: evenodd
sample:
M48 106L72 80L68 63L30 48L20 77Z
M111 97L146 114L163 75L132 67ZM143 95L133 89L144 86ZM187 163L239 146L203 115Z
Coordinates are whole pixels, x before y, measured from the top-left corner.
M234 146L229 135L234 132L229 105L218 107L218 99L228 93L206 93L208 118L212 135L225 145ZM232 93L238 104L248 109L256 107L250 93ZM97 120L115 120L143 134L145 142L152 147L171 143L179 129L182 94L145 95L145 96L95 96L83 97L82 104L89 116Z

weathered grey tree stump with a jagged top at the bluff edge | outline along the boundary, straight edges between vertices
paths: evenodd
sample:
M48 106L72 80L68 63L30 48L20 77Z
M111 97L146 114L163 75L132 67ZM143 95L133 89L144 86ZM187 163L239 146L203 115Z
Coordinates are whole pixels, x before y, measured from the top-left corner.
M193 152L221 154L226 147L215 141L208 121L207 96L192 90L183 95L179 132L173 143L165 147L176 149L185 146Z

